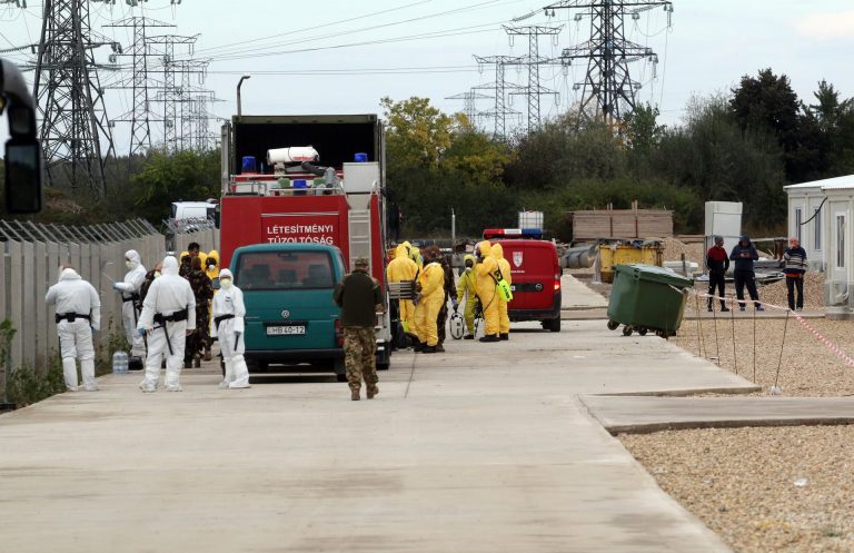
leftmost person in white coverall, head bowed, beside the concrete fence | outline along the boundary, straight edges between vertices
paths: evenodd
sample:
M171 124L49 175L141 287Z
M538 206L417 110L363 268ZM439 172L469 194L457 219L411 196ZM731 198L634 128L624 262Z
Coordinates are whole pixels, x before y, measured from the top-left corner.
M72 268L64 268L59 283L48 289L44 296L48 305L56 305L57 332L59 333L62 375L69 392L77 392L77 362L80 358L80 374L83 388L96 392L95 347L92 332L101 327L101 300L98 292Z

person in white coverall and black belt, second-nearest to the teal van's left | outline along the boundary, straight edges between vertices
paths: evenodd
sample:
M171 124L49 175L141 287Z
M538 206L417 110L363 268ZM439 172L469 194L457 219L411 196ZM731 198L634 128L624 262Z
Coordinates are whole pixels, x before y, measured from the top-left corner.
M196 329L196 296L186 278L178 276L178 259L163 258L160 278L148 288L137 333L148 335L146 377L142 392L155 392L160 378L160 358L166 356L166 389L180 392L185 339Z

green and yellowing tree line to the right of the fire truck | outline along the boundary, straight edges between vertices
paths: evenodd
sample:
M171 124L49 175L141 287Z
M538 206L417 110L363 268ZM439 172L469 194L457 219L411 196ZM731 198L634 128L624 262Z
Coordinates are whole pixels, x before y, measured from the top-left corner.
M708 200L743 201L751 233L786 228L783 187L854 172L854 102L822 81L806 103L788 78L764 69L728 93L693 98L679 125L651 106L618 126L565 113L532 134L495 140L424 98L383 101L388 184L407 236L515 226L520 209L545 213L572 238L568 211L674 211L677 233L703 233Z

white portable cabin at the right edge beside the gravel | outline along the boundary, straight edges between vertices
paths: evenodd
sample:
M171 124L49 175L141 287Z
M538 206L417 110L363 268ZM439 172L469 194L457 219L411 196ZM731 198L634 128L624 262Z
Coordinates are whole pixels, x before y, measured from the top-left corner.
M790 236L800 237L810 268L825 271L827 315L854 317L854 175L785 190Z

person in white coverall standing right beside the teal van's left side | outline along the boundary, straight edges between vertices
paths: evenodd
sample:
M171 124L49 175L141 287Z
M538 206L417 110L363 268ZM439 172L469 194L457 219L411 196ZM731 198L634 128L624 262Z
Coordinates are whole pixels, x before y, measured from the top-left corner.
M226 377L220 388L248 388L249 369L244 359L244 293L232 284L231 271L219 271L219 292L214 296L210 337L219 340L219 350L226 364Z

